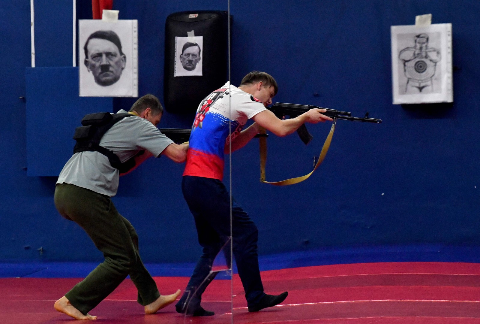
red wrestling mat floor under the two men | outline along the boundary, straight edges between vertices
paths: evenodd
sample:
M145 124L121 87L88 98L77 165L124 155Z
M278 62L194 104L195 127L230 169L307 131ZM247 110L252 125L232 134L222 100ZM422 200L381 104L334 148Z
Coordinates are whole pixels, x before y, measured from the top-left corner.
M233 282L234 323L260 324L480 324L480 264L443 262L362 263L314 266L262 273L265 292L288 290L273 308L249 313L238 276ZM156 277L162 294L185 287L188 278ZM78 279L0 279L3 324L79 323L53 309ZM203 307L215 316L185 323L231 323L230 281L214 280ZM182 324L173 305L144 315L126 280L92 315L105 324ZM83 323L83 322L82 322Z

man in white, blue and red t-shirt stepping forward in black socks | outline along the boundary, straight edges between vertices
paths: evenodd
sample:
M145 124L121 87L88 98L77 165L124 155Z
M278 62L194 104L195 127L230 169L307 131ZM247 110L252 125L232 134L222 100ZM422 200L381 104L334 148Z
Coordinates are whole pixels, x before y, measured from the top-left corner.
M332 120L324 109L311 109L296 118L282 120L265 106L272 103L278 86L264 72L246 75L235 87L227 82L208 95L198 106L193 122L183 172L182 191L195 219L198 240L203 247L192 277L176 305L177 312L209 316L214 312L200 306L202 293L211 282L204 279L213 261L230 236L230 195L222 183L224 153L245 146L264 127L277 136L287 136L304 123ZM248 119L254 123L243 129ZM233 255L245 290L249 312L257 312L282 302L288 295L264 293L258 267L258 229L235 201L232 205Z

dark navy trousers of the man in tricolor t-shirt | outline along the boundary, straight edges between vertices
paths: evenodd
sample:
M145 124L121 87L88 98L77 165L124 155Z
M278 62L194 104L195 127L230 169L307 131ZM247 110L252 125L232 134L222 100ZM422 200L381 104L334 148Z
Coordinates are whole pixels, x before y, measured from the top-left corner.
M182 192L195 219L203 254L177 306L184 307L187 299L191 299L188 307L194 310L200 305L205 288L215 277L212 274L205 280L215 257L230 237L230 195L220 180L190 175L183 176ZM235 200L232 201L232 238L233 256L245 298L248 306L252 306L265 295L258 267L258 229Z

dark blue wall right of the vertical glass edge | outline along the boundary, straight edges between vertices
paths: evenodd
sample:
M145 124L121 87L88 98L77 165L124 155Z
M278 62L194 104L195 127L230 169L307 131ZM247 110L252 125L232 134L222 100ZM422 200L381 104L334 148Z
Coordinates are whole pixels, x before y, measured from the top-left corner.
M274 101L383 119L339 121L324 164L289 187L258 183L258 144L233 156L234 196L260 228L260 251L480 243L478 1L232 1L232 83L271 73ZM390 26L453 24L454 104L393 105ZM258 34L252 22L262 22ZM330 125L269 138L267 180L307 174ZM248 187L248 189L246 189ZM285 228L288 228L286 230ZM480 252L480 250L479 250ZM388 258L388 254L385 255ZM480 260L480 258L477 256Z

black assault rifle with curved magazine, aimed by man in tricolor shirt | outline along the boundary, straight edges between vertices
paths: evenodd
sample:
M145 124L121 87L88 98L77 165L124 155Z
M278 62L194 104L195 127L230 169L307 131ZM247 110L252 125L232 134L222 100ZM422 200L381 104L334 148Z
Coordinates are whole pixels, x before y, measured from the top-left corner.
M322 112L325 116L331 117L333 119L341 119L341 120L350 120L355 122L366 122L366 123L382 123L381 119L376 118L369 118L368 112L365 113L365 117L353 117L351 112L340 112L335 109L328 109L322 108L312 105L299 105L296 103L282 103L277 102L271 107L266 107L269 111L273 112L278 118L283 118L285 116L289 116L290 118L295 118L301 115L304 112L308 112L312 108L320 108L325 109L326 112ZM297 133L300 139L307 145L312 140L312 135L307 130L305 124L301 125L299 129L297 129Z

